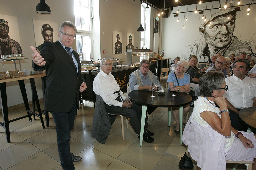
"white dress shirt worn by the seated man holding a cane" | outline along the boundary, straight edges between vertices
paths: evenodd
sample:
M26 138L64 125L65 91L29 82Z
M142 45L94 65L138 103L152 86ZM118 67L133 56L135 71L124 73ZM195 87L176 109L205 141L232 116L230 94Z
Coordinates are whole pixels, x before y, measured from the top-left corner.
M122 107L123 103L115 100L118 94L114 92L120 90L119 85L116 83L114 76L109 73L106 74L100 70L99 74L94 78L92 89L95 94L100 95L106 104ZM120 90L120 95L123 100L126 99L123 92Z

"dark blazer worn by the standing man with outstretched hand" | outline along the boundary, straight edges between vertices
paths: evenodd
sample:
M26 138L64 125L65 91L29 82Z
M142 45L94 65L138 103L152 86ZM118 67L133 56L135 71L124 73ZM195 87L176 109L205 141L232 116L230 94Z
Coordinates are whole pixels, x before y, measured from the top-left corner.
M42 44L40 55L46 61L45 67L39 67L32 61L34 70L46 70L44 104L47 111L69 112L76 98L77 108L79 108L79 88L85 80L80 73L81 66L78 53L74 50L72 53L78 62L78 74L73 59L59 41Z

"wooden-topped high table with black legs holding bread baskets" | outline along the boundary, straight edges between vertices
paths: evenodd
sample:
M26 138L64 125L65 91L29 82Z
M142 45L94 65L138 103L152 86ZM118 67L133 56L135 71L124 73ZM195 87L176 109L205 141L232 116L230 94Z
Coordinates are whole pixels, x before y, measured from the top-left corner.
M3 120L4 122L0 122L0 125L5 129L5 134L6 134L6 140L9 143L10 142L10 129L9 129L9 123L23 119L25 117L28 117L29 121L32 121L31 115L36 115L37 117L40 117L41 123L42 123L42 128L45 128L43 117L42 117L42 112L37 96L37 91L36 91L36 85L35 85L35 78L36 77L41 77L41 75L22 75L21 77L15 77L15 78L10 78L6 77L6 79L0 80L0 91L1 91L1 108L2 108L2 114L3 114ZM25 88L25 83L24 80L29 79L30 84L31 84L31 89L33 91L33 97L35 98L37 109L38 109L38 114L35 113L34 111L31 111L29 109L29 104L28 104L28 98L27 98L27 93L26 93L26 88ZM6 94L6 82L12 82L12 81L18 81L19 82L19 87L20 91L22 93L23 101L27 110L27 115L18 117L13 120L9 120L8 118L8 109L7 109L7 94Z

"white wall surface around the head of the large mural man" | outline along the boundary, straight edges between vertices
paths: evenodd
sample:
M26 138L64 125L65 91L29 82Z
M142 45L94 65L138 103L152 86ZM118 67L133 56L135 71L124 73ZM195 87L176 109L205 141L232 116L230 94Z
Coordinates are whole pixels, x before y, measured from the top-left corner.
M234 5L237 5L238 0L233 1ZM219 2L214 2L214 8L219 7ZM221 6L223 7L225 4L225 1L221 1ZM247 1L241 1L242 4L249 4L249 0ZM197 9L200 10L203 8L204 4L197 5ZM206 4L205 4L206 5ZM229 6L229 4L228 4ZM188 11L195 10L196 5L189 5ZM210 3L207 5L207 9L210 8ZM256 42L256 6L251 5L250 6L250 15L247 16L247 8L248 6L241 6L242 11L237 11L236 13L236 21L235 21L235 28L233 35L239 38L242 42L246 42L250 44L252 47L252 50L255 53L255 43ZM187 6L186 6L187 9ZM222 9L222 13L223 13ZM232 9L231 9L232 10ZM234 9L233 9L234 10ZM175 13L177 11L177 7L173 8L172 13ZM184 11L184 6L179 7L179 11ZM227 8L227 12L229 11L229 8ZM212 11L212 14L216 12ZM226 13L224 11L224 13ZM204 13L205 15L205 13ZM198 13L195 14L195 12L188 13L188 21L185 20L185 29L183 29L183 23L184 23L184 14L179 14L179 22L177 22L177 17L174 17L174 15L169 15L168 18L163 18L163 24L162 24L162 50L165 50L165 55L168 55L172 57L173 59L176 56L182 57L182 58L188 58L190 56L191 47L193 44L195 44L198 40L200 40L202 35L199 32L199 27L201 26L200 21L202 20L202 14L199 15ZM207 11L206 17L209 18L210 11ZM186 15L185 15L186 19ZM208 27L208 25L207 25ZM253 42L247 42L249 40L253 40ZM254 60L256 59L253 57ZM201 58L202 60L202 58ZM199 59L200 61L200 59Z

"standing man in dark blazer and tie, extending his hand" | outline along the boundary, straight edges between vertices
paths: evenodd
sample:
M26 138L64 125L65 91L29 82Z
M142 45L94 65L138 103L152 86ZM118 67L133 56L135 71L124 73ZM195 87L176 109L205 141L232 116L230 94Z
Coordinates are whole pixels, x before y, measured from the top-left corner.
M69 21L59 28L57 42L44 42L41 54L30 46L34 70L46 70L45 110L52 113L56 124L57 144L63 169L75 169L73 162L82 158L70 153L70 131L74 126L76 110L79 108L79 93L86 89L81 76L79 56L71 48L76 37L76 26ZM80 92L79 92L80 91Z

